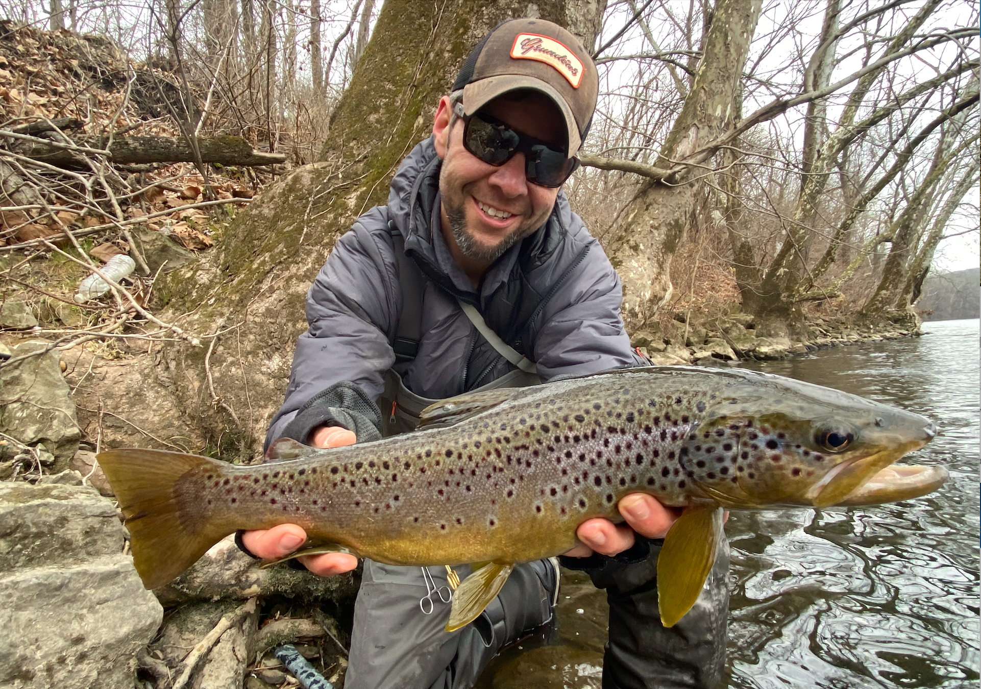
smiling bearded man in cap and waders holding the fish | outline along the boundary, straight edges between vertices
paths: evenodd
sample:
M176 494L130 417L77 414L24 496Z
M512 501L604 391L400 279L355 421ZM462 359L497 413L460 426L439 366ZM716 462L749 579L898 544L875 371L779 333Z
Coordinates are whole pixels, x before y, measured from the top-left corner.
M311 288L310 330L267 442L376 440L411 427L413 412L439 398L640 363L619 316L616 272L559 192L578 165L597 89L589 53L551 23L512 20L478 43L439 100L433 136L402 162L387 206L337 241ZM644 494L619 509L625 524L585 522L582 545L563 560L608 592L603 685L714 685L727 557L696 608L664 629L660 544L649 539L663 537L675 514ZM284 524L244 533L240 544L274 558L305 539ZM339 553L300 561L325 576L357 564ZM471 686L500 648L552 614L558 572L542 560L517 567L473 623L445 632L442 569L365 560L349 688ZM460 578L469 570L456 569Z

